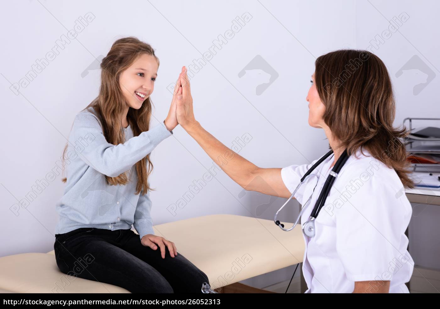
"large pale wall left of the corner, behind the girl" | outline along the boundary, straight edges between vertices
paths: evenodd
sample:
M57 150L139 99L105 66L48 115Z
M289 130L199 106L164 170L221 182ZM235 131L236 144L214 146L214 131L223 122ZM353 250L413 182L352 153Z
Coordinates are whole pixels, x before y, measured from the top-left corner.
M6 219L4 231L14 231L2 236L2 256L47 252L53 247L58 220L55 203L64 188L61 174L37 193L26 209L19 210L18 216L9 207L56 166L75 114L98 93L100 71L90 70L85 77L81 73L95 58L106 55L121 36L137 36L156 48L161 66L152 98L154 117L162 121L171 101L166 87L176 80L181 66L200 58L199 52L208 51L213 40L231 29L236 16L248 12L252 18L227 44L216 49L211 62L191 78L197 119L229 147L236 137L245 133L252 136L239 154L258 166L311 162L326 151L323 132L308 126L305 97L315 57L336 48L355 47L355 29L346 27L355 22L351 1L341 1L336 6L325 1L319 1L319 5L265 1L267 10L256 1L194 1L189 6L181 1L173 1L172 5L150 2L132 1L132 5L121 6L118 2L109 5L80 1L68 5L24 1L8 4L9 13L1 13L4 28L14 29L5 33L8 44L1 51L3 59L10 59L2 66L2 96L8 104L4 104L1 125L2 132L11 132L3 139L10 148L1 153L0 190L5 203L1 211ZM133 8L144 17L137 18ZM11 14L14 11L20 12L20 18ZM15 95L9 89L11 83L24 77L36 59L43 58L55 41L75 26L75 20L88 12L95 16L88 26L26 88L19 89L21 94ZM346 15L348 20L343 18ZM323 28L324 21L331 26ZM278 74L259 96L255 93L258 84L246 75L238 77L257 55ZM258 196L247 192L239 198L242 188L222 171L175 216L167 210L185 194L193 180L202 178L213 166L208 155L180 127L153 151L152 159L151 184L157 188L152 192L154 224L212 213L256 216L255 204L261 204ZM271 218L273 208L280 202L275 200L260 217Z

